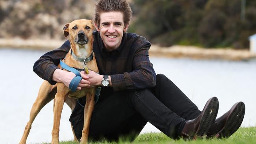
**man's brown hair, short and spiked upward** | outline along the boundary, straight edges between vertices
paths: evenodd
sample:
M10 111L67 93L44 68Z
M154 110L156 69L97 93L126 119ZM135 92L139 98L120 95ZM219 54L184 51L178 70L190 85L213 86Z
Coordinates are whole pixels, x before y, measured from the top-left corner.
M123 14L124 26L127 26L132 18L132 9L126 0L98 0L95 4L94 22L100 26L100 13L121 12Z

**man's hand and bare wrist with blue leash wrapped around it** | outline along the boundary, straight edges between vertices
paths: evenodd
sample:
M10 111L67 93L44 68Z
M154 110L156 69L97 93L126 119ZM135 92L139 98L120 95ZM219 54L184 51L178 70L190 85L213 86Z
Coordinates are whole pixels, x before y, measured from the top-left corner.
M87 81L86 79L88 79L88 76L85 76L85 74L83 72L80 72L81 76L82 76L82 80L80 81L80 83L78 84L78 87L76 88L77 90L81 90L82 87L90 87L90 82ZM53 75L52 75L52 80L56 81L56 82L60 82L60 83L64 83L64 85L66 87L69 87L70 81L75 77L76 75L73 72L67 72L65 70L61 70L59 68L57 68Z

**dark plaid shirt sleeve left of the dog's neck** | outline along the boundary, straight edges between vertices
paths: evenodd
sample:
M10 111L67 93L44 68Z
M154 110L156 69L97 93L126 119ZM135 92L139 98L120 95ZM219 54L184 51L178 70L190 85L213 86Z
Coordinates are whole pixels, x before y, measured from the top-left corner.
M69 52L70 42L65 41L61 47L47 52L42 55L33 66L33 71L42 79L48 81L51 85L55 85L56 81L52 80L54 71L58 68L59 61Z

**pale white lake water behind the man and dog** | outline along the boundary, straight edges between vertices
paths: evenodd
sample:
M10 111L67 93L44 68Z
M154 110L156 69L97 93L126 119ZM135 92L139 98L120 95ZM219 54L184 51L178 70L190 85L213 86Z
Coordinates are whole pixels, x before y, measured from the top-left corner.
M32 70L46 51L0 49L1 143L17 144L28 122L30 109L43 79ZM165 74L202 110L212 96L219 99L221 116L236 102L246 106L242 126L256 126L256 60L219 61L150 57L157 74ZM27 143L51 142L52 102L38 114ZM61 115L59 140L73 138L67 105ZM147 124L141 133L159 132Z

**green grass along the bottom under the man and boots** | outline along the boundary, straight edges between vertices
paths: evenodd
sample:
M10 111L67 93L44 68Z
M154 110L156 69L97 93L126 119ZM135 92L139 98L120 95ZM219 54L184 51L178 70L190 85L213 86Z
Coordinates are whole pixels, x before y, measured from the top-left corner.
M47 143L42 143L47 144ZM78 144L73 141L60 142L60 144ZM90 144L130 144L127 141L115 142L90 142ZM228 139L198 139L198 140L173 140L163 133L145 133L139 135L132 144L256 144L256 127L239 128Z

